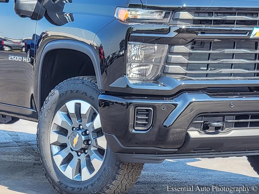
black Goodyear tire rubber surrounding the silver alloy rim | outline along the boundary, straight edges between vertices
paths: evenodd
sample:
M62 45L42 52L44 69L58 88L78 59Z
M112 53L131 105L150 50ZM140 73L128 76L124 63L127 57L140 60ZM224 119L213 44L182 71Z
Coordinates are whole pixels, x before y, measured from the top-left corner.
M61 166L63 167L64 165L60 165L60 167L58 167L58 165L55 163L56 160L54 160L54 158L56 156L55 154L53 156L53 147L52 147L53 145L50 145L52 142L51 135L53 133L52 126L54 126L53 120L55 120L56 118L56 116L54 115L56 115L56 113L59 110L61 110L61 108L64 107L65 104L67 106L67 103L70 103L73 100L85 101L89 103L93 107L93 109L98 110L98 96L100 93L101 92L97 87L96 77L93 77L93 76L75 77L75 78L70 78L68 80L65 80L59 85L57 85L48 95L48 97L46 98L43 104L43 107L40 112L38 132L37 132L38 152L39 152L42 170L48 182L53 186L53 188L58 193L62 193L62 194L126 193L128 190L132 188L132 186L135 184L135 182L138 180L141 174L141 170L144 164L122 163L117 161L108 145L106 147L106 151L103 156L104 159L103 159L102 166L96 172L96 174L91 178L89 178L88 180L83 180L82 169L81 169L81 181L72 180L71 178L68 178L68 176L66 176L64 172L62 172L62 170L59 169L61 168ZM76 103L74 106L76 107ZM84 109L84 107L81 107L81 109L79 110L82 112L82 109ZM68 114L70 115L70 113ZM93 116L91 118L93 118ZM72 120L74 118L70 116L70 119ZM92 121L93 123L95 122L95 119ZM80 128L78 128L78 130L79 129ZM74 131L72 133L74 133ZM93 132L91 132L91 134L92 133ZM71 146L70 150L71 152L74 153L74 150L72 150L72 147L75 145L75 139L73 140L74 144L72 142L73 145L71 144L71 142L72 140L70 137L69 139L69 145ZM75 149L75 146L73 149ZM82 157L82 155L78 157ZM84 157L87 158L86 156ZM67 162L70 160L67 159L65 161ZM74 171L72 170L72 172Z

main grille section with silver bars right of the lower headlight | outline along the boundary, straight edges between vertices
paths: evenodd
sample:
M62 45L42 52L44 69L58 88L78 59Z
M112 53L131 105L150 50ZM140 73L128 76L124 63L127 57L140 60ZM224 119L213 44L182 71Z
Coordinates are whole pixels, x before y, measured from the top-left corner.
M170 52L166 74L192 79L259 77L257 41L193 41L171 46Z

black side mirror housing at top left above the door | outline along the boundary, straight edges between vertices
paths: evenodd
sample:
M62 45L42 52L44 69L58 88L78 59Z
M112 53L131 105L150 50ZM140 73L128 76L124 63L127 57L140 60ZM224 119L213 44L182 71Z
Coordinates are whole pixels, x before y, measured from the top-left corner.
M37 20L38 16L39 20L42 19L46 11L41 8L41 3L38 0L15 0L14 10L18 16L32 20Z

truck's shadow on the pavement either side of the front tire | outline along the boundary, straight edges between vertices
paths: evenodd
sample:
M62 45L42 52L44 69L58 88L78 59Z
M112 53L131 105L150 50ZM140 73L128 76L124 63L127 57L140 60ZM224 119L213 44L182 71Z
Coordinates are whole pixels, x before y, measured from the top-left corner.
M258 186L259 178L186 165L186 162L195 161L199 160L185 159L176 162L164 161L162 164L146 164L139 181L129 194L168 193L168 185ZM0 193L56 193L45 179L39 164L34 134L0 130Z

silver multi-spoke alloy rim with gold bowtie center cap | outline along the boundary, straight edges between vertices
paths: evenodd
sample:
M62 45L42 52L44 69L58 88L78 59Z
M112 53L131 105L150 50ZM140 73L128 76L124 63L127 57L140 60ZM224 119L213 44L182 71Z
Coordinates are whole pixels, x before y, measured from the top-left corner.
M73 100L62 106L49 141L56 166L71 180L89 180L103 164L107 142L99 113L88 102Z

